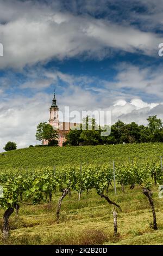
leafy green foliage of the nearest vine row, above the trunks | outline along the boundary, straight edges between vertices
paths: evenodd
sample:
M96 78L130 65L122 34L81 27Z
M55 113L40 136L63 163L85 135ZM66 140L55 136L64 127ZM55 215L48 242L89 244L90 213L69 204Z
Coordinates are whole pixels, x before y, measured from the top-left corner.
M163 181L161 163L152 160L116 164L116 180L120 184L139 184L148 189L152 186L153 173L158 182ZM0 184L4 196L0 199L4 208L14 207L22 198L32 203L40 203L49 194L71 188L79 192L95 188L97 193L104 193L113 180L112 164L65 165L58 168L37 168L35 170L17 169L1 171Z

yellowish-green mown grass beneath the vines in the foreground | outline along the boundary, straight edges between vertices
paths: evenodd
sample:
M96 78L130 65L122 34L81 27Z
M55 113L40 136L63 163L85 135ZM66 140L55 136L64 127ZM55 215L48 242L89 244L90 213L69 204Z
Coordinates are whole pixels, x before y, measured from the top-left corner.
M121 205L118 212L118 236L113 235L112 206L99 197L94 190L78 195L72 192L62 201L59 223L55 211L60 194L53 196L51 204L21 205L19 216L10 217L8 245L163 245L163 200L158 198L157 186L154 203L158 230L151 228L152 211L148 199L137 186L125 188L117 194L110 187L109 197ZM0 215L3 216L3 210ZM0 222L2 227L2 219Z

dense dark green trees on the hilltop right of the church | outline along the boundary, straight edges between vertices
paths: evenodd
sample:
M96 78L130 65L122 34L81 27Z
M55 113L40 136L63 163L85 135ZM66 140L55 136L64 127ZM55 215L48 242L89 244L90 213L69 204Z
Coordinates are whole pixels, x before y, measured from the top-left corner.
M95 119L89 117L84 120L85 129L71 130L67 135L67 143L72 146L77 145L103 145L103 144L122 144L141 143L141 142L162 142L163 128L162 122L156 116L147 118L147 126L139 126L135 122L125 124L118 120L111 126L109 136L101 136L101 130L97 126ZM98 130L97 130L98 128Z

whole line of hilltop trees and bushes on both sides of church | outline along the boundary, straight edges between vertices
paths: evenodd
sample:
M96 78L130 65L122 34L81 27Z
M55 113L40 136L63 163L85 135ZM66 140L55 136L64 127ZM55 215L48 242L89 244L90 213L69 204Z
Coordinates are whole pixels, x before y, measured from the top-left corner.
M87 116L83 118L83 124L79 124L79 129L70 130L66 134L66 142L64 142L63 146L163 142L161 119L154 115L148 116L147 121L147 126L139 126L136 122L126 124L118 120L111 126L110 135L102 136L101 132L104 131L105 127L98 126L95 118ZM48 146L58 146L58 132L50 124L41 122L37 125L36 140L41 141L42 145L45 141L48 141ZM15 142L9 141L4 150L15 150L16 147Z

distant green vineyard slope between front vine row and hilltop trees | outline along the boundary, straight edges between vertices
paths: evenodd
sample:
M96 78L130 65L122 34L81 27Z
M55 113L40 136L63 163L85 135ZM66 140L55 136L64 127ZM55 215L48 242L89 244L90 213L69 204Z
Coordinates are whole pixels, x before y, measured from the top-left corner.
M0 169L36 168L80 163L104 163L115 160L163 156L162 143L102 145L81 147L30 147L0 154Z

